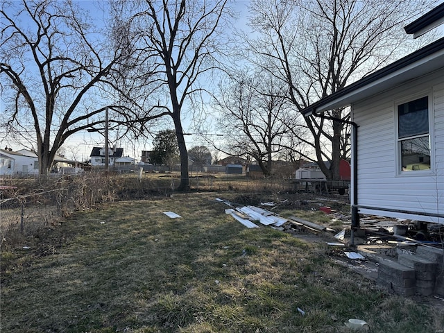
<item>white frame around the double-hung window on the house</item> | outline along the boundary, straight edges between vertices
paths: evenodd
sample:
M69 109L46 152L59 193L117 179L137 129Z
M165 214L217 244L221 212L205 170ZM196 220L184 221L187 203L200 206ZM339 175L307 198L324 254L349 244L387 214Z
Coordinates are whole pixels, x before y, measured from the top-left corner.
M398 113L398 106L409 103L412 101L416 101L417 99L422 99L424 97L427 97L427 114L428 114L428 123L429 123L429 132L425 135L411 135L409 137L399 137L399 113ZM395 121L395 158L396 158L396 169L395 174L397 176L430 176L433 175L435 172L434 168L434 140L432 138L432 135L434 133L434 105L433 105L433 95L432 95L432 89L427 89L422 92L418 92L418 94L411 94L404 99L399 99L395 101L394 103L394 121ZM429 150L430 150L430 169L425 170L409 170L409 171L403 171L402 170L402 152L401 152L401 142L407 141L409 139L415 139L418 137L425 137L427 136L429 138Z

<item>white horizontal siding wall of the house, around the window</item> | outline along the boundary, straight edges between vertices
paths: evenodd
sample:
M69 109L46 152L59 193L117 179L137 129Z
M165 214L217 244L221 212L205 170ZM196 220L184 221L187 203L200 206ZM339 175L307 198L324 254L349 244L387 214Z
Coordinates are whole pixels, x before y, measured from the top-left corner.
M429 174L400 175L397 163L395 102L432 91L432 167ZM352 105L358 129L358 205L386 210L444 214L444 69ZM363 214L444 224L444 218L359 208Z

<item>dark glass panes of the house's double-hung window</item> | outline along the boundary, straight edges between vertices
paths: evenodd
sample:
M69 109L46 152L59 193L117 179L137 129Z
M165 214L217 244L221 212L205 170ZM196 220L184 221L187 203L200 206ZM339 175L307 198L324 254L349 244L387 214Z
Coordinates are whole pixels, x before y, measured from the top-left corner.
M398 105L401 171L430 169L429 97Z

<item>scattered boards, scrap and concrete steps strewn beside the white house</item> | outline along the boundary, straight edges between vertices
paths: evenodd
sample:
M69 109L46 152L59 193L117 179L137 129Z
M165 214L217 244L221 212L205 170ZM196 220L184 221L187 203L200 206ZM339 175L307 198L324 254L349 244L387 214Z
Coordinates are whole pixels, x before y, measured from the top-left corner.
M361 228L352 228L349 214L332 209L325 203L317 203L317 210L327 214L332 225L343 228L337 232L297 216L283 218L271 212L278 205L286 205L287 201L277 204L259 201L259 205L267 208L264 209L236 205L219 198L216 200L229 205L230 209L225 213L231 214L247 228L266 225L291 234L309 232L323 236L319 237L322 241L328 239L330 233L333 241L327 241L328 255L395 293L404 296L444 295L444 225L361 216Z

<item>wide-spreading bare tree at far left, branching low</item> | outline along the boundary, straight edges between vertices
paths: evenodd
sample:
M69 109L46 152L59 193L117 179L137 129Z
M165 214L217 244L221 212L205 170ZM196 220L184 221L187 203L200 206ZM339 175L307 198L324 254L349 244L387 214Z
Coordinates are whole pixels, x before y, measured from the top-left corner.
M8 104L1 125L36 146L41 175L71 135L103 128L106 108L114 112L110 126L135 120L115 84L125 45L108 47L72 1L3 1L0 14L1 92Z

